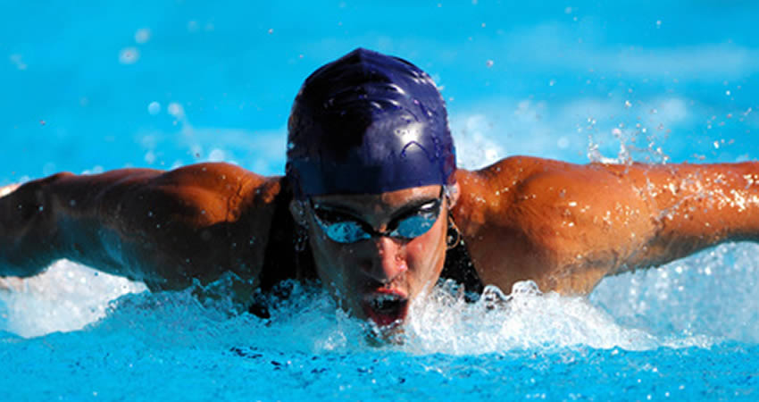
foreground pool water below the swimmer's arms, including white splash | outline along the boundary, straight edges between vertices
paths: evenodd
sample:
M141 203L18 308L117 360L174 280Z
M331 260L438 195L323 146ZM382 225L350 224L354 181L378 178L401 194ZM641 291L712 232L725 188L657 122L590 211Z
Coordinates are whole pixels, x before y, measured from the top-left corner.
M659 271L615 277L589 299L540 295L521 283L505 306L488 309L438 289L413 307L399 343L379 345L365 323L338 311L320 289L296 286L269 320L236 314L225 300L199 302L190 290L129 294L79 331L30 339L3 332L0 396L753 399L759 331L756 297L746 290L756 264L738 258L725 266L721 259L749 257L756 248L726 245ZM720 268L727 271L722 280L698 289L709 281L707 271ZM47 274L60 272L74 272L79 289L93 286L83 281L94 279L86 268L64 262ZM69 303L93 303L71 290ZM21 325L15 331L29 331L34 325L21 315L45 313L46 306L28 303L44 297L15 296L6 304L15 313L4 314ZM75 321L94 313L64 306L53 314Z

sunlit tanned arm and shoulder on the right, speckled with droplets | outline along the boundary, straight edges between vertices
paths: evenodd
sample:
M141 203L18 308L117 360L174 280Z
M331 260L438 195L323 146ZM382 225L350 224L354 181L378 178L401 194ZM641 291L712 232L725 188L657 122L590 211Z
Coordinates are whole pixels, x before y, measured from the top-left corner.
M578 165L513 157L459 172L454 214L480 277L587 293L605 275L759 239L759 164ZM458 216L456 216L458 215Z

